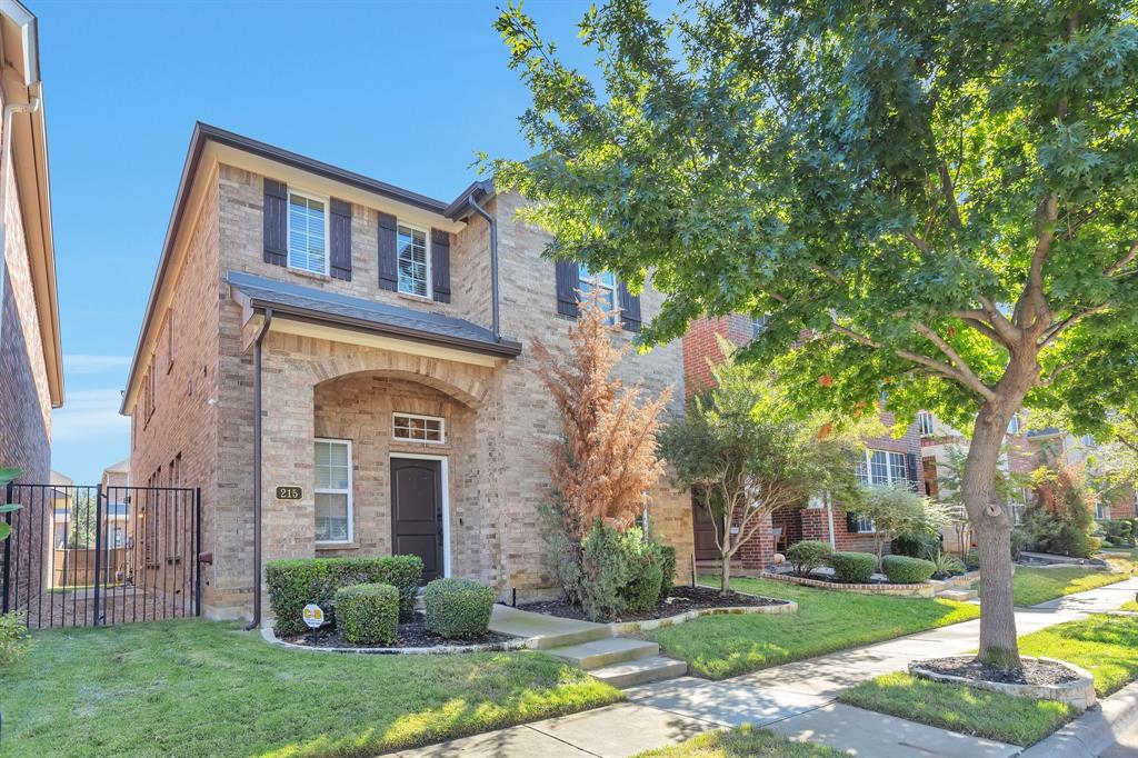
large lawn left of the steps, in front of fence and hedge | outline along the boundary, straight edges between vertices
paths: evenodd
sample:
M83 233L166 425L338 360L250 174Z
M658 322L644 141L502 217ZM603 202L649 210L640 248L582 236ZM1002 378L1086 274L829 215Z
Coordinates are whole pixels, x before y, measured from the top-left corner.
M374 756L621 698L536 652L291 651L198 619L35 634L5 756Z

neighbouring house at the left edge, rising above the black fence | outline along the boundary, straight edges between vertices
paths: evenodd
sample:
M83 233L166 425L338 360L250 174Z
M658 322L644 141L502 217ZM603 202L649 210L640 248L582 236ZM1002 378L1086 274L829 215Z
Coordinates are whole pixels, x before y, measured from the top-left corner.
M47 484L64 384L39 57L35 16L0 2L0 465Z

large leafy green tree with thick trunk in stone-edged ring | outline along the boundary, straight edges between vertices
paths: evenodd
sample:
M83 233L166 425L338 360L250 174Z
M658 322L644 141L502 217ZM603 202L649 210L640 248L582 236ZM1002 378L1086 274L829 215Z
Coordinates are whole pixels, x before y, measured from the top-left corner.
M586 14L587 72L520 7L497 28L534 147L495 160L551 254L667 295L642 335L766 314L803 407L971 428L980 657L1020 665L992 496L1024 403L1094 422L1136 384L1135 3L723 0ZM810 339L799 343L806 330Z

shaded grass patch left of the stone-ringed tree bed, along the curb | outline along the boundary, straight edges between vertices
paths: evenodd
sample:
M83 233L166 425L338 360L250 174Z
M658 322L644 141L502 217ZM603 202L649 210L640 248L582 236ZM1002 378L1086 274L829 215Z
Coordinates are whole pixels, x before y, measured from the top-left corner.
M1039 742L1078 715L1062 702L1016 698L900 673L863 682L838 699L866 710L1023 747Z

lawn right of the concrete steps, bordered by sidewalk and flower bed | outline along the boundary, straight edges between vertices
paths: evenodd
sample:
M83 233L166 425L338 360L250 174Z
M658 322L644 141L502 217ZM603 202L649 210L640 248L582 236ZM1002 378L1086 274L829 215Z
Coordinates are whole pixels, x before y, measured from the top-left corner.
M980 616L971 603L814 590L768 579L731 586L799 603L794 613L708 616L648 636L692 672L721 679Z

